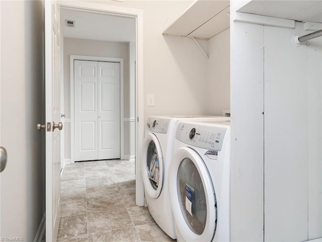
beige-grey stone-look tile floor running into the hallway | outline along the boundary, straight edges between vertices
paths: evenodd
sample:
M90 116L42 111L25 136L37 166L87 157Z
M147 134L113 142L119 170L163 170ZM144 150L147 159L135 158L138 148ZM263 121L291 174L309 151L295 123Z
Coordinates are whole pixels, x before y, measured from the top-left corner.
M58 242L176 241L135 205L134 162L76 162L61 176Z

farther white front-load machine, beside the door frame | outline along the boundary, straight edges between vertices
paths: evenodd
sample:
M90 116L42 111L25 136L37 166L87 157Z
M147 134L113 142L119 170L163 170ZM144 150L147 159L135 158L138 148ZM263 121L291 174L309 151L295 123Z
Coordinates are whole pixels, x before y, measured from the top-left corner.
M180 120L229 120L223 116L151 116L147 119L142 148L142 176L149 212L170 237L176 238L168 172Z

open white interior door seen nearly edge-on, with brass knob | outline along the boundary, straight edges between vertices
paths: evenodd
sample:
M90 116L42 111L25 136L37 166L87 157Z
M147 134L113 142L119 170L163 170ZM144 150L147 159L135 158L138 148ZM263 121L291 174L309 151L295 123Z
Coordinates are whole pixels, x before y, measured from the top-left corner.
M46 241L56 241L60 219L59 5L45 1Z

